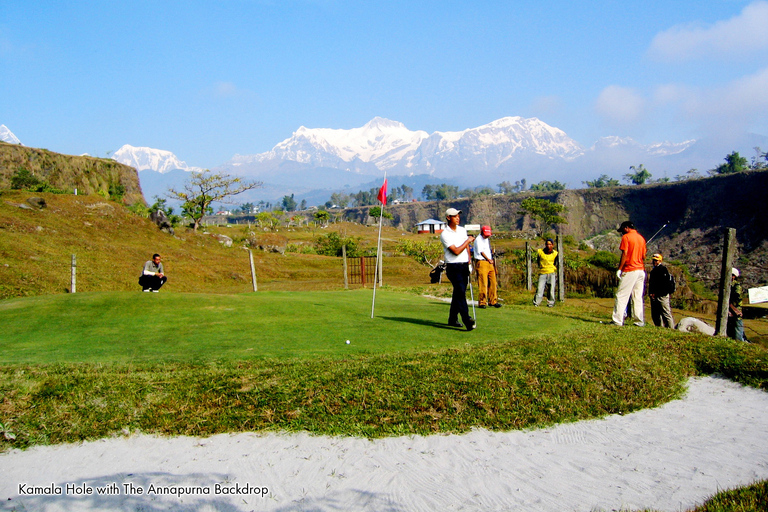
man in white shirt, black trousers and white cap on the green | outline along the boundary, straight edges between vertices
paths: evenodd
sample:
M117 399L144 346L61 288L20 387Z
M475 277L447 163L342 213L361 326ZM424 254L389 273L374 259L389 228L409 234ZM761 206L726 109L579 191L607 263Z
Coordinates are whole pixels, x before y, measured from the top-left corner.
M475 328L475 321L469 316L467 306L467 284L469 284L469 251L467 248L475 237L467 235L467 230L459 226L461 210L448 208L445 218L448 226L440 233L440 242L445 252L445 275L453 285L451 311L448 314L448 325L451 327L466 327L468 331ZM459 316L464 325L459 323Z

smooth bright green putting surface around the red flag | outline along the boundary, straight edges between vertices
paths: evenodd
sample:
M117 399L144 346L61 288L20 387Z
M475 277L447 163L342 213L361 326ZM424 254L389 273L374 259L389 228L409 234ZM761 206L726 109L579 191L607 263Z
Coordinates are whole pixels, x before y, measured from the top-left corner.
M0 364L342 358L479 346L582 323L525 308L477 310L448 328L449 304L377 290L239 295L99 292L0 301ZM350 344L345 344L350 340Z

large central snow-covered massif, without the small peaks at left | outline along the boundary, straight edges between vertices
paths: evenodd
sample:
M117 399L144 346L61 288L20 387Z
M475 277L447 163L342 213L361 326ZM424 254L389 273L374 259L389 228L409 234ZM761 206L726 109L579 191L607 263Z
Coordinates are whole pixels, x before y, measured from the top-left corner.
M375 168L439 174L459 163L464 165L462 170L467 170L467 164L474 170L493 170L526 154L567 161L581 156L583 150L565 132L536 118L505 117L477 128L430 135L376 117L351 130L302 126L271 151L235 155L225 166L254 168L269 161L292 161L362 173Z

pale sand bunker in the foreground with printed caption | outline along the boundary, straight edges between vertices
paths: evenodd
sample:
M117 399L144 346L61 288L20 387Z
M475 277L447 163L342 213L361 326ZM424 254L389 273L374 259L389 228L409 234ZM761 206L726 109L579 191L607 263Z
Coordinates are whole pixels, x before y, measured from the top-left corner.
M767 425L768 393L708 377L657 409L535 431L375 441L142 435L0 454L0 510L678 511L768 478ZM113 482L119 494L97 495ZM94 495L67 495L68 483ZM222 483L268 492L217 494ZM22 496L20 484L63 494ZM151 485L210 494L147 495Z

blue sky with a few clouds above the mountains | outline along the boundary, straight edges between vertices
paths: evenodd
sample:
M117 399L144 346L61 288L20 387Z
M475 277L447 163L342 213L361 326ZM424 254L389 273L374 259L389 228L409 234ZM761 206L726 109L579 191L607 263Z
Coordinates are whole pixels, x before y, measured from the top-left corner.
M214 167L299 126L768 135L768 1L0 2L0 124ZM765 148L764 148L765 149Z

